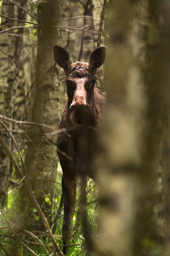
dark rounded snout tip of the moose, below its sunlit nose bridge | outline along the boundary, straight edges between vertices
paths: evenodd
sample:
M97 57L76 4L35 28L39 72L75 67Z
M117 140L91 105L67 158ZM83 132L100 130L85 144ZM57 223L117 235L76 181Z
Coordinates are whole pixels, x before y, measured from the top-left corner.
M70 119L73 124L87 124L90 114L89 104L73 102L70 105Z

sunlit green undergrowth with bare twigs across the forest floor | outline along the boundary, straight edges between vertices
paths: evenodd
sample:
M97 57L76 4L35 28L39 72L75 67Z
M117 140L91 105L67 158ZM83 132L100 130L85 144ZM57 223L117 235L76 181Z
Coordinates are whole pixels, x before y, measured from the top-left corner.
M19 183L19 180L16 178L15 169L11 174L11 178L15 179ZM52 203L52 213L50 216L50 228L53 230L55 240L62 250L62 224L63 224L63 206L61 212L58 212L60 199L62 196L62 187L61 187L62 171L61 166L58 166L57 177L54 190L54 198L51 199L50 195L44 195L44 200L46 203ZM15 187L10 187L8 191L8 203L5 205L3 213L0 212L0 255L16 255L16 256L49 256L52 252L52 244L48 237L48 233L38 232L36 230L36 222L40 220L38 213L34 207L28 206L28 198L24 198L24 201L20 200L20 189ZM95 183L89 179L87 181L87 221L89 226L94 234L97 234L98 230L98 211L99 211L99 201L97 189ZM70 241L70 256L85 256L85 238L83 237L81 220L78 218L78 204L79 204L80 190L79 190L79 180L76 194L76 207L73 217L73 236ZM52 202L51 202L52 201ZM22 212L21 216L18 215L20 205L25 205L25 211ZM56 216L58 214L57 220ZM5 217L4 217L5 215ZM26 231L26 227L20 228L20 221L22 218L28 215L30 218L27 220L28 225L32 223L32 234L30 235ZM55 225L55 227L54 227ZM55 230L54 230L55 228ZM35 237L33 237L35 236ZM23 243L23 244L22 244ZM42 245L43 244L43 245ZM3 248L3 249L2 249ZM18 254L14 253L18 249ZM32 252L31 252L31 250ZM34 253L33 253L34 252Z

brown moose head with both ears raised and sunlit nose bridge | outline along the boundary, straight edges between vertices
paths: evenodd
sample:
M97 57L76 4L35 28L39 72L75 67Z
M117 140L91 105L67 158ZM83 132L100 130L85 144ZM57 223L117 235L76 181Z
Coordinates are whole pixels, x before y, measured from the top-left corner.
M90 61L72 63L69 53L62 47L53 48L56 63L64 69L70 120L73 124L88 124L95 93L95 74L104 63L106 47L96 48L90 55Z

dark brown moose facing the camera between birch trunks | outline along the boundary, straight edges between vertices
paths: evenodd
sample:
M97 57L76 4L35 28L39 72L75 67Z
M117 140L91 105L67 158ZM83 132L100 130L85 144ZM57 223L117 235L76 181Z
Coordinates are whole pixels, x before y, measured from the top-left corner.
M58 45L54 46L53 52L56 63L64 69L67 87L59 125L59 129L65 128L67 132L58 134L57 152L63 170L63 253L68 255L76 199L78 129L83 126L95 128L101 123L105 98L96 86L95 74L105 61L106 47L96 48L88 63L72 63L69 53ZM95 179L95 172L95 166L89 160L87 175Z

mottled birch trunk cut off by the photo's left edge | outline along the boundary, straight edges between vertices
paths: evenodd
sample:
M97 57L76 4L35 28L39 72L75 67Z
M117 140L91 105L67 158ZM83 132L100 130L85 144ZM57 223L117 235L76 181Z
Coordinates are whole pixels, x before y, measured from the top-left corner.
M10 2L3 1L2 5L2 15L7 17L14 17L14 5ZM1 28L6 29L12 27L13 22L11 20L2 18ZM1 50L7 55L10 55L11 59L14 60L15 52L15 38L12 36L3 35L1 39ZM15 95L16 88L13 86L17 70L15 69L9 58L0 52L0 59L3 66L0 67L1 77L0 77L0 114L8 117L12 117L13 113L13 96ZM2 62L3 61L3 62ZM16 86L15 86L16 87ZM1 125L1 129L3 126ZM5 141L11 148L11 138L7 132L2 132ZM1 160L0 160L0 202L4 204L7 201L8 193L8 182L7 178L10 173L10 161L6 155L6 152L1 147Z

